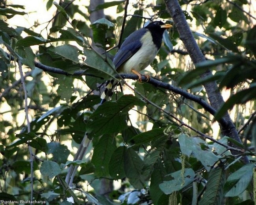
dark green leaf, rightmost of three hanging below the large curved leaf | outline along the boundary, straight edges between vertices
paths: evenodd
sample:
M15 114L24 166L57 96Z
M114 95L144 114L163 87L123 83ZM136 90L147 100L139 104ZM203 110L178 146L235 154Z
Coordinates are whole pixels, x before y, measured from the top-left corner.
M124 172L129 178L130 183L136 189L144 187L145 179L142 174L143 161L139 155L132 149L128 148L124 152Z

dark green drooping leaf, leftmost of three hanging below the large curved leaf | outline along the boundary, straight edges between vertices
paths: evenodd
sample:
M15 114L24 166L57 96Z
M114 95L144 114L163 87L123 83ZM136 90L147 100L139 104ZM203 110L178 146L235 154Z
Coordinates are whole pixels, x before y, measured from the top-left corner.
M103 135L94 146L91 162L95 165L95 175L99 177L109 176L109 162L111 155L117 148L115 138Z

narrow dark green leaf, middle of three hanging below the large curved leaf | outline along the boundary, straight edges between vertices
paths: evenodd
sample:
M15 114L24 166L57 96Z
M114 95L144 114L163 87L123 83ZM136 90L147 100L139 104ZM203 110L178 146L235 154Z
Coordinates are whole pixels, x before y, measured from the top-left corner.
M125 177L124 153L126 149L125 146L120 146L112 153L109 161L109 174L113 179L122 179Z

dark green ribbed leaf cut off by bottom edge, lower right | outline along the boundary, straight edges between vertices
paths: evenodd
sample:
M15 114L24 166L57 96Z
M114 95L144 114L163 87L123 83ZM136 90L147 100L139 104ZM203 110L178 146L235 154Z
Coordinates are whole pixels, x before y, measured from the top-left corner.
M222 205L226 176L223 168L212 169L199 205Z

